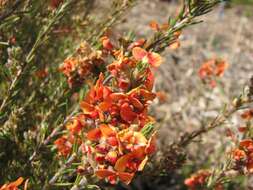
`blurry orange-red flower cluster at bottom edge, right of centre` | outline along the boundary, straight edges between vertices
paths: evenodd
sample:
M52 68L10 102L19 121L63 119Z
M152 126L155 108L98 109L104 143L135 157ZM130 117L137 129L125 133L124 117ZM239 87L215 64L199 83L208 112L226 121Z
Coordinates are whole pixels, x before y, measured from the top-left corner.
M211 173L209 171L200 170L193 174L190 178L187 178L184 183L189 189L195 190L199 187L202 187L210 175Z

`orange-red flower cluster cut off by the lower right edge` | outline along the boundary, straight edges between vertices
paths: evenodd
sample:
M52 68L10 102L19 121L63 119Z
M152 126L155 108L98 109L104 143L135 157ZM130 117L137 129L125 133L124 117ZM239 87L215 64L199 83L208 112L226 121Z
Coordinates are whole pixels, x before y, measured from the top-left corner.
M253 173L253 140L244 139L239 147L232 151L232 157L235 161L235 169L244 170Z

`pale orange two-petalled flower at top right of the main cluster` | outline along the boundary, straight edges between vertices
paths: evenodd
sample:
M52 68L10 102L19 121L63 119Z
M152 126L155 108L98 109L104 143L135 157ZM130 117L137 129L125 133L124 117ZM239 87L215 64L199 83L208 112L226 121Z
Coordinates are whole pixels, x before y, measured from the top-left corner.
M140 47L135 47L132 54L137 61L147 61L153 67L159 67L162 64L162 58L158 53L147 52Z

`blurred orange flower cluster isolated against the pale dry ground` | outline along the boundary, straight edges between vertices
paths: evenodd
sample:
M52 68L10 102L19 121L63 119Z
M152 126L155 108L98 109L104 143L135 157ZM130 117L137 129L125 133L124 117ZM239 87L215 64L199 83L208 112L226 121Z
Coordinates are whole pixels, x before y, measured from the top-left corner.
M228 68L228 63L221 59L211 59L199 69L199 77L204 83L209 83L212 88L216 86L216 77L221 77Z

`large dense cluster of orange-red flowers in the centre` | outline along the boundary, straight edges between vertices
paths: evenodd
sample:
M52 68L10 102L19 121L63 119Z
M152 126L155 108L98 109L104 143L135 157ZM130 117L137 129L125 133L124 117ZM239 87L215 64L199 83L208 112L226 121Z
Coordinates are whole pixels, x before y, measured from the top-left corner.
M68 134L55 141L63 156L77 145L85 163L82 168L92 168L111 184L119 180L129 184L155 151L154 119L148 106L156 97L152 67L162 59L142 49L144 43L139 40L115 49L108 37L102 38L102 51L113 59L106 67L108 73L99 75L80 103L81 113L66 125Z

